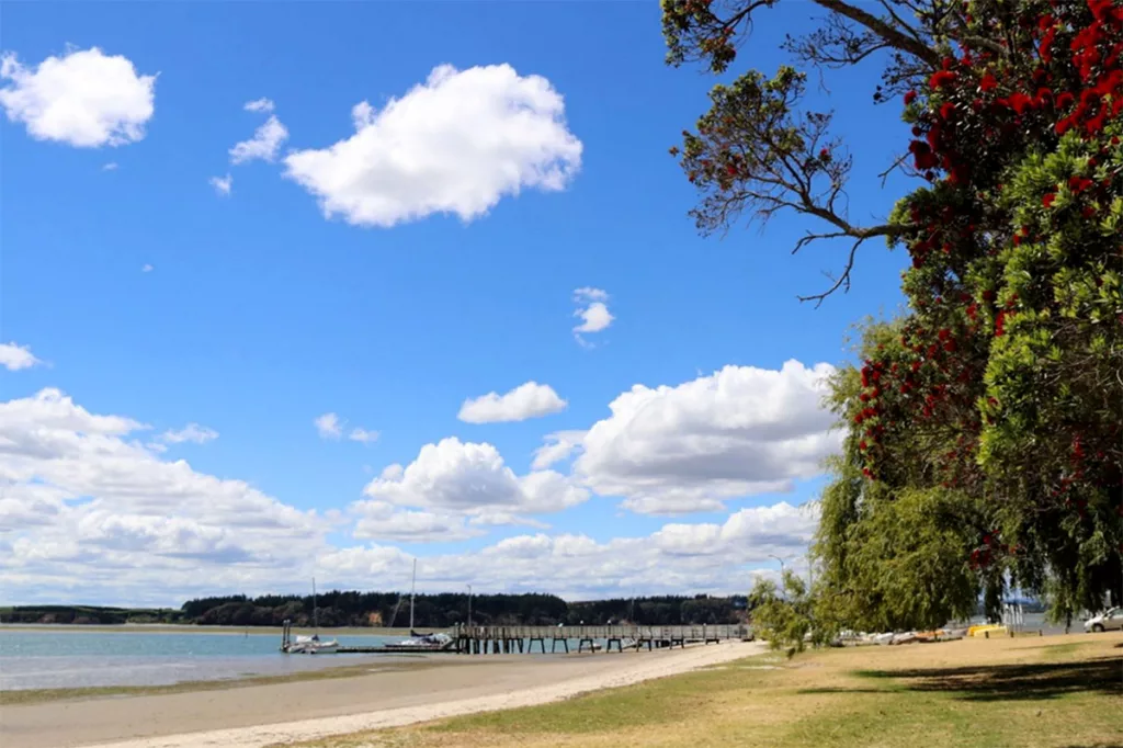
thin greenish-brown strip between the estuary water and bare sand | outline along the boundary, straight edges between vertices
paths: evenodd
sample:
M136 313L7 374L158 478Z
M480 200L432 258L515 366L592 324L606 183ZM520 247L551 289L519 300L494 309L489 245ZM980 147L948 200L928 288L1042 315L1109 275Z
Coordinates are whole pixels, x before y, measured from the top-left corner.
M408 657L400 655L399 657ZM427 669L447 666L448 662L435 662L417 657L414 662L394 662L386 664L364 663L362 665L340 665L316 671L301 671L283 675L254 675L244 678L227 678L222 681L185 681L171 685L156 686L90 686L83 688L27 688L21 691L0 691L0 706L19 704L39 704L54 701L74 701L84 699L102 699L108 696L155 696L171 693L189 693L195 691L226 691L255 685L272 685L276 683L296 683L301 681L329 681L334 678L350 678L369 675L376 672L403 669Z

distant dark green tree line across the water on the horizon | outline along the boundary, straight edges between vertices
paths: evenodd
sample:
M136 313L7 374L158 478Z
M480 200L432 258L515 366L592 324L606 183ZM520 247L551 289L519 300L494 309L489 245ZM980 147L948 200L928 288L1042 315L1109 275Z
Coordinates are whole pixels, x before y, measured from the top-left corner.
M325 628L407 627L409 595L398 592L325 592L317 596L314 617ZM419 594L414 628L450 628L468 621L467 594ZM738 623L746 618L746 598L666 595L566 602L547 594L482 594L472 598L472 622L490 626L588 626L634 622L648 626ZM180 610L26 605L0 609L13 623L191 623L197 626L298 627L313 622L311 595L223 595L199 598Z

